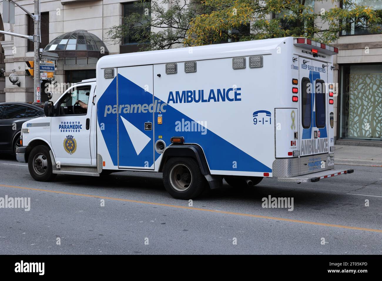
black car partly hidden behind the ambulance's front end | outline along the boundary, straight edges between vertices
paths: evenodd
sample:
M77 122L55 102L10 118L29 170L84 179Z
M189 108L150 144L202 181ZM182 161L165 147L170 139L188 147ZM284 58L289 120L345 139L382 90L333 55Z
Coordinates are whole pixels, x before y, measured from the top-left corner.
M40 102L0 103L0 153L15 153L16 147L21 145L23 123L43 116L44 104Z

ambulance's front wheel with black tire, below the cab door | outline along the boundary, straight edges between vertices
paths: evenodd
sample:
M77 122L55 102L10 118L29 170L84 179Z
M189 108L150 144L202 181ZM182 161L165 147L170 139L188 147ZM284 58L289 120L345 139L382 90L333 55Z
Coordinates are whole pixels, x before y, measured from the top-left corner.
M28 169L32 178L39 182L49 182L57 174L53 174L52 161L49 154L50 148L46 145L38 145L32 149L28 158Z

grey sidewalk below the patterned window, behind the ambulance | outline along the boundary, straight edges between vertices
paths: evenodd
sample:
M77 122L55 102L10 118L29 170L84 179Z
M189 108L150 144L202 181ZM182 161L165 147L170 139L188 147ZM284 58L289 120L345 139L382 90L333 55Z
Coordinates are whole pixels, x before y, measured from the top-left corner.
M382 167L382 148L373 146L335 145L334 164Z

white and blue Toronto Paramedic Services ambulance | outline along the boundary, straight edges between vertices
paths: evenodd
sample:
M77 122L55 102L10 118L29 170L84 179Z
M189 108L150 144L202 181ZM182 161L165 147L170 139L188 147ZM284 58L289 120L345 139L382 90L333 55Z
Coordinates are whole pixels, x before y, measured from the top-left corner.
M317 182L334 167L333 55L308 38L274 38L107 55L23 124L19 162L57 174L162 172L170 195Z

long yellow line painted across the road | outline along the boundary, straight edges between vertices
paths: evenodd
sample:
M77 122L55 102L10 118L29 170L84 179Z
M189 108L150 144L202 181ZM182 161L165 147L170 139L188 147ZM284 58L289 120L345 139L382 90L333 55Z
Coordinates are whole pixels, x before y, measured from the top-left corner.
M165 207L171 207L171 208L196 210L196 211L204 211L204 212L219 213L219 214L233 214L236 216L246 216L246 217L261 218L261 219L273 219L273 220L277 220L277 221L288 221L291 223L303 223L303 224L313 224L313 225L317 225L317 226L340 227L340 228L346 228L346 229L382 232L382 230L380 230L380 229L370 229L370 228L355 227L355 226L342 226L340 224L316 223L314 221L300 221L298 219L286 219L286 218L277 218L277 217L269 217L269 216L260 216L260 215L256 215L256 214L244 214L244 213L236 213L236 212L228 212L228 211L210 210L210 209L195 208L195 207L189 207L189 206L170 205L170 204L155 203L155 202L148 202L148 201L105 197L105 196L98 196L98 195L72 193L72 192L64 192L64 191L56 191L56 190L47 190L47 189L40 189L40 188L19 187L19 186L14 186L14 185L5 185L5 184L0 184L0 187L19 188L19 189L24 189L24 190L35 190L35 191L52 192L52 193L66 194L66 195L101 198L101 199L117 200L117 201L124 201L124 202L133 202L133 203L155 205L155 206L165 206Z

